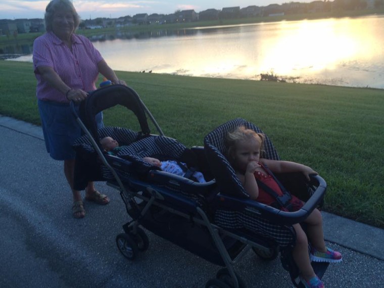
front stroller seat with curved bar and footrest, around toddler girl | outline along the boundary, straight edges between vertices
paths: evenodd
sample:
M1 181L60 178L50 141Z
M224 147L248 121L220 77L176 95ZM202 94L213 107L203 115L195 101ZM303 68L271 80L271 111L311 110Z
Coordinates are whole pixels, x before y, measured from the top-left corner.
M291 249L296 243L296 232L292 224L301 223L316 207L321 207L326 183L318 175L311 176L310 182L301 173L276 175L287 190L305 201L304 206L295 212L281 211L251 200L225 157L225 137L228 132L239 126L263 133L254 124L245 119L236 118L217 127L204 138L207 161L216 179L221 197L221 202L215 210L214 221L220 227L244 235L255 243L272 247L271 251L273 251L273 246L277 246L281 252L283 267L290 272L295 286L300 287L299 271L291 255ZM272 142L265 134L264 137L264 154L261 157L279 160ZM321 278L328 265L312 263L312 266L315 273Z

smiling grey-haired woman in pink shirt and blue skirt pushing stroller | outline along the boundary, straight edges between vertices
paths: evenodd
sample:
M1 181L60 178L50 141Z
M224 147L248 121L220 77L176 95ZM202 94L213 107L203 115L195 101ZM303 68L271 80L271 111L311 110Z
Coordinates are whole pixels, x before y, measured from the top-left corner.
M45 146L55 160L64 160L64 174L72 189L72 215L83 218L85 210L80 191L73 188L75 154L72 143L81 129L71 114L69 102L81 102L86 91L96 89L99 73L113 83L124 84L108 66L101 54L84 36L76 35L80 18L69 0L53 0L45 9L46 33L33 43L33 65L37 79L36 96ZM102 115L97 117L103 126ZM85 200L108 204L89 182Z

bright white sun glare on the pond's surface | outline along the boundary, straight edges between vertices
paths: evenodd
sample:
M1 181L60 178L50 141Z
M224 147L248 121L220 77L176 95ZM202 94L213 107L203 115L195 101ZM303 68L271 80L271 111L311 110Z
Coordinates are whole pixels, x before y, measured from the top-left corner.
M360 29L358 33L359 25L335 29L334 21L300 21L290 24L289 29L282 23L273 42L263 45L265 57L259 63L260 71L273 70L279 75L299 76L303 72L335 70L340 63L358 54L362 53L359 58L365 58L371 53L366 48L359 50L362 43L372 40L366 38L366 31Z

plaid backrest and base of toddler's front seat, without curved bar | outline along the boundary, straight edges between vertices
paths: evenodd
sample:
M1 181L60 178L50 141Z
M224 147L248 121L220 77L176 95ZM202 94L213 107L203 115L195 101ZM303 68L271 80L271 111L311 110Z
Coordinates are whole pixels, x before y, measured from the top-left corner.
M250 200L242 183L225 157L225 136L238 126L245 126L258 133L263 133L254 124L236 118L206 135L204 150L211 167L212 174L220 188L220 195L228 199L222 201L215 212L215 222L224 228L244 229L266 237L280 247L295 244L296 234L287 219L279 216L282 211ZM277 152L267 136L265 136L265 153L263 157L279 160ZM237 204L237 207L234 203ZM249 232L248 232L249 233Z

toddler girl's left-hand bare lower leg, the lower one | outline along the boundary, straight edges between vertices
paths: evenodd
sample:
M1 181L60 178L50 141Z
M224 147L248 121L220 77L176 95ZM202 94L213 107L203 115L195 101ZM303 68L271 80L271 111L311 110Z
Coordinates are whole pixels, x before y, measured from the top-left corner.
M296 231L296 245L292 251L292 256L302 277L309 281L309 279L316 275L309 259L307 235L300 224L294 224L293 227Z

